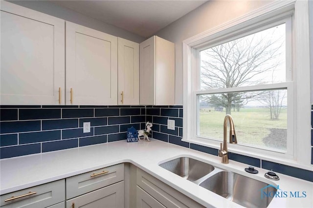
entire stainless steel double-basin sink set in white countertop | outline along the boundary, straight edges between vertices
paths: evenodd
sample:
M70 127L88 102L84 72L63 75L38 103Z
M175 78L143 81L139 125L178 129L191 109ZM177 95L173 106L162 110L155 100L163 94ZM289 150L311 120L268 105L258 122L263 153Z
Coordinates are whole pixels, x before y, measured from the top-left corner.
M248 208L268 207L272 197L261 197L261 189L274 193L277 191L275 187L268 186L269 184L262 181L226 171L189 157L179 157L159 166Z

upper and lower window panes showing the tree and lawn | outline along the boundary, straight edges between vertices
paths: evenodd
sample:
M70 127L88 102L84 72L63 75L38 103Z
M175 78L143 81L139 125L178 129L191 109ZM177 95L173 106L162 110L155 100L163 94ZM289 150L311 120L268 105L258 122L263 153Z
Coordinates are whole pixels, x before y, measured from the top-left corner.
M292 82L292 74L291 62L286 62L291 17L267 26L199 50L197 136L223 141L224 116L231 114L238 144L292 154L292 140L287 142L292 134L287 131L288 94L293 94L287 81ZM212 92L217 89L219 93Z

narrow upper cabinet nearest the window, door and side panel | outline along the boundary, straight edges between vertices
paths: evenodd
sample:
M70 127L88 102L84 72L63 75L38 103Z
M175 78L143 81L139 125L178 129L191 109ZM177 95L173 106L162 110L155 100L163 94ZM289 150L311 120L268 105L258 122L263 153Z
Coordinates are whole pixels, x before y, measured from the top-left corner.
M140 43L140 104L174 103L175 44L153 36Z

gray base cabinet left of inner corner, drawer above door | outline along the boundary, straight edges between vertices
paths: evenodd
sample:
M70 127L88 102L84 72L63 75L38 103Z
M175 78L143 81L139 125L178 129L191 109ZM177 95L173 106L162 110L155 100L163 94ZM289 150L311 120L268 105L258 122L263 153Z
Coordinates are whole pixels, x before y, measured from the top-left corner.
M67 208L124 208L124 164L66 179Z

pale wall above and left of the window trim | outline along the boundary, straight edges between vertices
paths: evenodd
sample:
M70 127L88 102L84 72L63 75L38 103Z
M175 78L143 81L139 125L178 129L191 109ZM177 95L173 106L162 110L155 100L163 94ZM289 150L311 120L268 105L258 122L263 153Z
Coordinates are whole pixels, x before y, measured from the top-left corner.
M175 43L175 104L183 102L182 41L271 3L269 0L210 0L156 33Z

